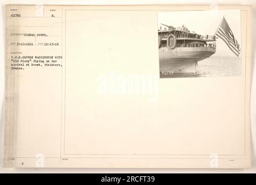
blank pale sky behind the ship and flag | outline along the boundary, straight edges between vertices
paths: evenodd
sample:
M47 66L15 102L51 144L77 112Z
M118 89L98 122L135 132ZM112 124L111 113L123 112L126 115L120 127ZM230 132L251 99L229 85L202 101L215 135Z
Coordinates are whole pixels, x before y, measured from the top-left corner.
M179 27L182 24L200 35L214 35L225 16L230 29L239 45L241 46L241 20L240 10L199 10L199 11L177 11L158 13L158 28L161 23ZM235 54L226 46L222 39L217 39L217 50L215 56L235 56Z

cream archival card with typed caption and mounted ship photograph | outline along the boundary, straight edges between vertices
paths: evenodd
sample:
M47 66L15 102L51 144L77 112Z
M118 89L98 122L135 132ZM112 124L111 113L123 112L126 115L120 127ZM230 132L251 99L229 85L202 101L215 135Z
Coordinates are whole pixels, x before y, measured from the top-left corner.
M251 7L210 9L6 5L3 166L250 168Z

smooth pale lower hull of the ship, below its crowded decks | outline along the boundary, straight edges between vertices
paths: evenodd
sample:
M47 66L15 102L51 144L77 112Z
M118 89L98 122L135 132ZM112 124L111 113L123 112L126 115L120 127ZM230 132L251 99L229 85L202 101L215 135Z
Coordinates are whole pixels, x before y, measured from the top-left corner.
M212 47L176 47L159 49L160 72L196 72L197 62L215 53Z

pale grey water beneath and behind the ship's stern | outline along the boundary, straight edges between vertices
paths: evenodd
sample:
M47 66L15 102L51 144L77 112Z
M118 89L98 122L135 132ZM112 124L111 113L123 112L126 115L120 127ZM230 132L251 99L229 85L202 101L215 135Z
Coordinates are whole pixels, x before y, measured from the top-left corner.
M211 56L198 62L199 73L172 73L161 75L161 77L219 77L219 76L241 76L241 58ZM164 66L161 66L164 69Z

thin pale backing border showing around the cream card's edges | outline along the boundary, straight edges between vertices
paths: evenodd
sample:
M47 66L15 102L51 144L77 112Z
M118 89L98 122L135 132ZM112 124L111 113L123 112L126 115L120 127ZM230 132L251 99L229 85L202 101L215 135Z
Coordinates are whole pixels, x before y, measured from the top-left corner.
M21 4L53 4L53 5L156 5L156 4L191 4L189 0L66 0L66 1L26 1L26 0L2 0L0 2L0 173L256 173L256 67L255 67L255 41L256 38L252 36L252 56L251 56L251 70L252 70L252 84L251 84L251 169L15 169L15 168L2 168L3 158L3 128L4 128L4 68L5 68L5 17L4 9L5 4L8 3L21 3ZM194 0L194 5L209 5L212 8L217 8L219 5L252 5L252 33L256 31L256 1L255 0Z

